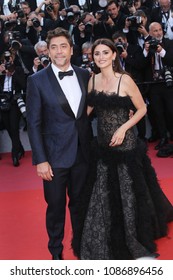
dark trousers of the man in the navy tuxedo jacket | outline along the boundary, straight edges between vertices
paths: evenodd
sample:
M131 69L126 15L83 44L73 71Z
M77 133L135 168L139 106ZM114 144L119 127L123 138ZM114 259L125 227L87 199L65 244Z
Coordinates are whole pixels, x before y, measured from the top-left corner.
M47 202L46 227L49 251L52 255L59 255L63 250L67 194L73 232L78 226L77 206L88 173L88 163L84 160L80 148L72 167L53 168L53 173L52 181L43 181Z

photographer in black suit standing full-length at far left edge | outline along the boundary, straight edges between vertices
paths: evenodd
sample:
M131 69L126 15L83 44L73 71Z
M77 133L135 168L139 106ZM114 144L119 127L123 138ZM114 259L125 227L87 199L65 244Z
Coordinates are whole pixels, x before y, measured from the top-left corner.
M24 117L26 108L22 102L23 89L25 89L24 71L14 64L14 56L5 52L0 64L0 111L2 122L12 142L12 161L19 166L19 160L24 156L24 149L19 136L19 121L21 113Z

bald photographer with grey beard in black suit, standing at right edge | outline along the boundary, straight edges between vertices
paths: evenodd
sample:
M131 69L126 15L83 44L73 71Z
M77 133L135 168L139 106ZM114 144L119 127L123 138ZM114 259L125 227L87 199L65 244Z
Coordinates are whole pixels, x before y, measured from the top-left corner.
M149 117L158 131L158 150L168 142L167 132L173 138L173 41L163 36L162 26L153 22L149 26L150 38L145 43L144 56L148 62L146 81L150 83L148 93Z

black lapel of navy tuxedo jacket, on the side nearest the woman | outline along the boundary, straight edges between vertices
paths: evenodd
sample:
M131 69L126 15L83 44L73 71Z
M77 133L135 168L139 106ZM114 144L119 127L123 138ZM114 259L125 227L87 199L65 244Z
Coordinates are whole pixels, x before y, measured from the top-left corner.
M77 75L78 82L79 82L79 85L80 85L80 88L81 88L81 91L82 91L81 101L80 101L79 108L78 108L78 113L77 113L77 119L78 119L82 115L83 108L84 108L84 105L85 105L86 88L85 88L85 85L84 85L84 82L83 82L82 72L80 71L80 68L75 67L73 65L73 69L74 69L74 71Z

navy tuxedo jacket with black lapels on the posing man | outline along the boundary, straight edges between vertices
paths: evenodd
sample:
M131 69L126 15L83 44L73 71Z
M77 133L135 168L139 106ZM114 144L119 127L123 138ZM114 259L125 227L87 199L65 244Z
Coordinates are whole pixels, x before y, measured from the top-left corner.
M90 127L86 113L89 72L73 66L82 91L77 117L51 65L28 77L27 123L33 164L48 161L54 168L73 165L79 145L88 160ZM73 94L73 85L72 94Z

